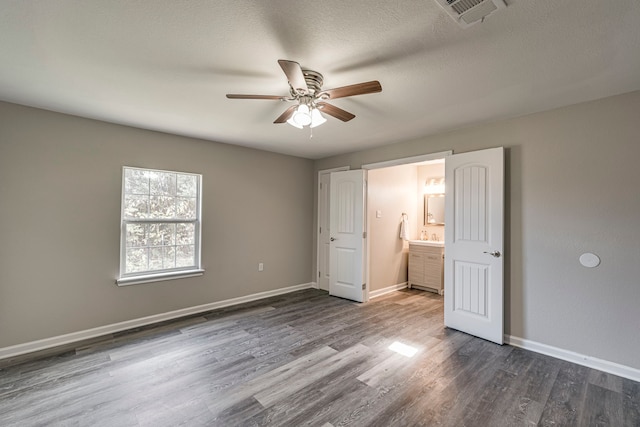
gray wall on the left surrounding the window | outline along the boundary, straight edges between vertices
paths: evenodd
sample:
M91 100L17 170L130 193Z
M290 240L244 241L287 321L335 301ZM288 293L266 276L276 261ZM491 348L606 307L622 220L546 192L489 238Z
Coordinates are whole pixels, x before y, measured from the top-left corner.
M204 276L115 285L123 165L203 174ZM0 347L309 283L312 208L310 160L0 103Z

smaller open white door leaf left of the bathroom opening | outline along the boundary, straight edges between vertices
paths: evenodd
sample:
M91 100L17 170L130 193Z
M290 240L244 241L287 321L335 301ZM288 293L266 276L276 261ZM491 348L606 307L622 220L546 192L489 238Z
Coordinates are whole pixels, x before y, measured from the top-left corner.
M330 186L329 295L364 301L364 170L333 172Z

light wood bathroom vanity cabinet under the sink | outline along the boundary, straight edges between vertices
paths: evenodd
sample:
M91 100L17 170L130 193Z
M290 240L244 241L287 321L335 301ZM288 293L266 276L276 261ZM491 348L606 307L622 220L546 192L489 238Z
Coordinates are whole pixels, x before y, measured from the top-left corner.
M444 293L444 247L409 242L409 288Z

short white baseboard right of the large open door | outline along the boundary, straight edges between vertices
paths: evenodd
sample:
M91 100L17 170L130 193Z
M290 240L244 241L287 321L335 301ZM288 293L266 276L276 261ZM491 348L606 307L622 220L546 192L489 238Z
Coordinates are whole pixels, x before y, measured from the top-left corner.
M586 356L584 354L575 353L573 351L553 347L547 344L542 344L520 337L514 337L511 335L505 335L504 341L505 344L509 344L514 347L531 350L536 353L545 354L547 356L555 357L556 359L562 359L566 360L567 362L573 362L578 365L586 366L588 368L608 372L610 374L628 378L633 381L640 381L640 369L632 368L630 366L620 365L619 363L609 362L608 360Z

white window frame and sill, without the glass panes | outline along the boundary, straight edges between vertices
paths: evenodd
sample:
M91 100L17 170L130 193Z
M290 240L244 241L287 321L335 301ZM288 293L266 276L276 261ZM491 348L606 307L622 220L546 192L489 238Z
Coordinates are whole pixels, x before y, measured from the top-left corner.
M191 219L158 219L139 218L125 219L125 186L127 170L138 170L145 172L169 173L176 175L190 175L196 177L196 218ZM192 172L179 172L162 169L141 168L134 166L122 167L122 194L120 201L120 272L116 279L118 286L135 285L140 283L159 282L164 280L181 279L186 277L201 276L202 269L201 243L202 243L202 174ZM194 225L194 264L187 267L174 267L161 270L146 270L139 272L126 272L127 261L127 225L129 224L193 224Z

